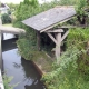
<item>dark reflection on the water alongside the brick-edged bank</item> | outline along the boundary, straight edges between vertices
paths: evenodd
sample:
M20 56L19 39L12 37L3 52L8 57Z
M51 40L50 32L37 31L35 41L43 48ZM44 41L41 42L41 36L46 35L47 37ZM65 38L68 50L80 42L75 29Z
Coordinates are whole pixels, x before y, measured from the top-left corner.
M31 61L26 61L23 58L21 59L21 65L23 67L24 73L24 81L27 85L24 86L26 89L43 89L43 85L40 81L40 76L38 71L34 69ZM30 66L30 68L29 68ZM31 82L30 82L31 81Z

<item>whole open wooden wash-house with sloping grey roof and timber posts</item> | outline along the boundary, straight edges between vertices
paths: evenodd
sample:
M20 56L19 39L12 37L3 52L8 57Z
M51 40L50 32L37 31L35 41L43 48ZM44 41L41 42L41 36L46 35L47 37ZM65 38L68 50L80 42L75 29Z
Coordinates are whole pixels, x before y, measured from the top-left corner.
M37 30L38 38L38 48L40 49L40 33L46 32L49 38L56 43L56 57L57 59L60 57L60 46L65 38L68 36L69 30L65 31L67 27L58 27L52 29L53 27L63 23L70 20L76 14L76 10L73 7L55 7L50 10L41 12L37 16L28 18L22 22L34 30ZM63 32L63 34L62 34ZM52 36L52 33L55 36Z

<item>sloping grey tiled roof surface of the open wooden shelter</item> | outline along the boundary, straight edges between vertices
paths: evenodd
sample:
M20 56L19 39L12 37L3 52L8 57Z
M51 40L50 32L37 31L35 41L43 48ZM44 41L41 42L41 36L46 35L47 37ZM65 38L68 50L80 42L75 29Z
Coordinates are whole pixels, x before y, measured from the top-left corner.
M73 7L56 7L28 18L22 23L41 31L76 14Z

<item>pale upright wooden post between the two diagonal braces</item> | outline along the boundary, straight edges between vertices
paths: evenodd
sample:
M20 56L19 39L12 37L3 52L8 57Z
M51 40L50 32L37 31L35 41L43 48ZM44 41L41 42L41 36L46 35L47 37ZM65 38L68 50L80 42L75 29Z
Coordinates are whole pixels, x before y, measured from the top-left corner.
M60 44L61 44L61 33L56 33L56 39L58 44L56 44L56 57L57 57L57 62L59 63L59 58L60 58Z

